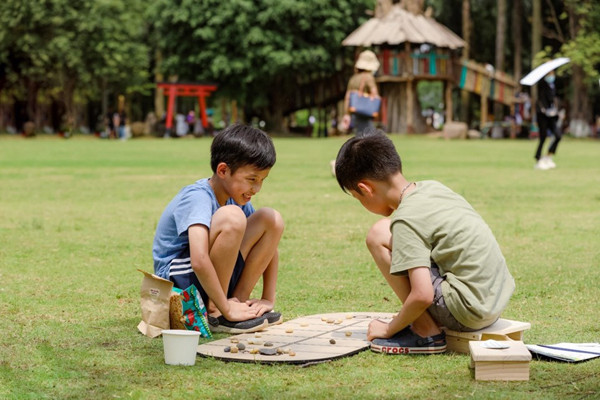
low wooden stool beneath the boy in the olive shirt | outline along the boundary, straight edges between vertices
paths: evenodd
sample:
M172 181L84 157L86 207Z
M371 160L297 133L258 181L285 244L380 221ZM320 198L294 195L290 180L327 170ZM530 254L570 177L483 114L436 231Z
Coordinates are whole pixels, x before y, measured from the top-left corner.
M500 318L487 328L475 332L457 332L444 328L448 351L469 354L469 342L473 340L523 340L523 332L531 328L529 322Z

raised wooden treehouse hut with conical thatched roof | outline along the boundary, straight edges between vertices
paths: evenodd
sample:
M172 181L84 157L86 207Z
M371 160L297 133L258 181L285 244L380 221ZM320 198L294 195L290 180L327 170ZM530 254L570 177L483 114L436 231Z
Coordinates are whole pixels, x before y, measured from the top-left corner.
M450 29L407 4L391 5L342 41L357 52L373 48L381 68L377 82L384 97L382 122L388 132L423 132L425 122L416 95L419 80L444 83L446 119L452 120L453 65L465 42Z

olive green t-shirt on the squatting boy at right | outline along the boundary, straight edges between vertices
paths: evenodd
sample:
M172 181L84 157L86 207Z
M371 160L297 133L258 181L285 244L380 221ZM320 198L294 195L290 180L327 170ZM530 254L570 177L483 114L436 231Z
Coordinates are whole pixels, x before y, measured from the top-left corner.
M436 181L417 182L390 218L392 274L433 261L458 322L482 329L500 317L515 283L492 231L462 196Z

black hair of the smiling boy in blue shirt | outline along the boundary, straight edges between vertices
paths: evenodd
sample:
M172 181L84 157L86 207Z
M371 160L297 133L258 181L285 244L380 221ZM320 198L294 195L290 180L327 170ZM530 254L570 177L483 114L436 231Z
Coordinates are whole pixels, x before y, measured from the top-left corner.
M275 160L275 146L269 135L247 125L228 126L215 136L210 146L213 172L217 172L217 165L222 162L233 174L245 165L253 165L259 170L269 169L275 165Z

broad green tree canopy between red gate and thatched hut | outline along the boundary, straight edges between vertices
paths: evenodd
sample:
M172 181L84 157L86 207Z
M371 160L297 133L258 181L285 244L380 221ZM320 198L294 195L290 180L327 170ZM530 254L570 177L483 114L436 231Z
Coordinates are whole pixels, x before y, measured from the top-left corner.
M372 0L157 0L149 10L161 71L212 81L263 117L314 74L333 74L341 41ZM336 61L338 61L336 63Z

